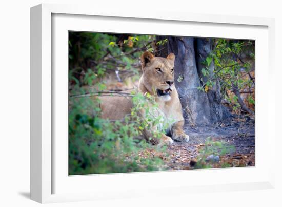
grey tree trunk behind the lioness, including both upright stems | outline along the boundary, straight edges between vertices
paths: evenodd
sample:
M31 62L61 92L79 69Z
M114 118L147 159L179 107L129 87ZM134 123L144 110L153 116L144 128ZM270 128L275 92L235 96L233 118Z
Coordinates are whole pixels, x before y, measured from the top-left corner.
M168 52L175 54L175 87L182 103L184 118L191 125L215 123L223 119L219 84L208 93L198 89L201 84L199 76L203 67L202 61L210 51L210 40L168 37ZM209 70L212 76L213 63Z

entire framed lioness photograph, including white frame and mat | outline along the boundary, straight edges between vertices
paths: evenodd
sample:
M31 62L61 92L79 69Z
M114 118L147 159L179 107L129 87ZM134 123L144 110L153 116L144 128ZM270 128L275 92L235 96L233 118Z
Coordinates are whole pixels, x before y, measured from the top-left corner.
M31 8L31 198L274 185L274 21ZM268 156L264 156L268 152ZM212 179L211 179L212 178Z

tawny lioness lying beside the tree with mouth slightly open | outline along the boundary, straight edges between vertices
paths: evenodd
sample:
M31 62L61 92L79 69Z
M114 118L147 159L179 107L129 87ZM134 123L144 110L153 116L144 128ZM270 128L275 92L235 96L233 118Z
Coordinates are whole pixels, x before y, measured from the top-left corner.
M150 93L154 97L163 116L174 120L169 129L166 129L172 135L172 139L162 134L159 140L168 145L172 144L173 140L189 141L189 136L182 128L184 125L182 106L174 86L174 59L173 53L167 58L162 58L154 57L151 52L144 52L141 56L143 74L138 85L139 92ZM101 97L101 100L104 119L121 120L131 112L132 102L128 97ZM142 114L143 111L140 113ZM155 129L144 129L143 136L146 140L153 140L152 143L157 144L158 140L150 139L152 130Z

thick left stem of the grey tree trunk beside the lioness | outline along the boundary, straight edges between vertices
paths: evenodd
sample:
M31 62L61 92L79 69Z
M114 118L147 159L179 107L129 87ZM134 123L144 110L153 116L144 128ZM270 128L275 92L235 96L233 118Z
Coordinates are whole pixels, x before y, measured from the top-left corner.
M182 104L184 118L190 125L210 123L210 107L200 86L197 72L194 39L192 37L169 37L168 51L175 54L175 87Z

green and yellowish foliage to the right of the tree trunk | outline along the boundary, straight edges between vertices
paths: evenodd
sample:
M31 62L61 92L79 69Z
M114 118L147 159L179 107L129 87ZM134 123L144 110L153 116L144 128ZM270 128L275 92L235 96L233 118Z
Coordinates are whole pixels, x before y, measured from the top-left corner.
M221 88L221 97L228 101L234 111L240 108L238 97L231 94L233 90L248 89L254 92L253 80L248 76L252 70L251 62L254 61L254 42L244 40L213 39L212 51L202 62L202 86L199 90L208 91L213 89L216 82ZM244 61L243 61L244 60ZM210 71L210 64L213 61L214 70ZM254 98L249 96L249 104L254 105Z

